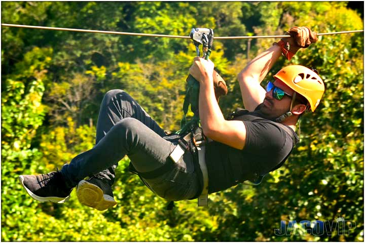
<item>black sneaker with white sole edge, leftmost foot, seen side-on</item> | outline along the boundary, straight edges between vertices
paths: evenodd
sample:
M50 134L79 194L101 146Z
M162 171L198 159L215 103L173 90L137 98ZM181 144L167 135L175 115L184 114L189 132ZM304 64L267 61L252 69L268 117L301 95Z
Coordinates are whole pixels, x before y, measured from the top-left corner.
M68 201L72 188L67 188L61 172L43 175L22 175L19 181L28 194L38 201L63 204Z

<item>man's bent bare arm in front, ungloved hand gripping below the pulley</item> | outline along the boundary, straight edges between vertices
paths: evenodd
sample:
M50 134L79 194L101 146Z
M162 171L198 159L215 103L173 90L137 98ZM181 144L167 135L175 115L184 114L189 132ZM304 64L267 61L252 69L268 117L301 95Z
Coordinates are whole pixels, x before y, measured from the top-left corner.
M213 87L214 64L203 58L194 58L190 73L200 83L199 116L205 136L237 149L243 149L246 129L242 121L226 120L215 99Z

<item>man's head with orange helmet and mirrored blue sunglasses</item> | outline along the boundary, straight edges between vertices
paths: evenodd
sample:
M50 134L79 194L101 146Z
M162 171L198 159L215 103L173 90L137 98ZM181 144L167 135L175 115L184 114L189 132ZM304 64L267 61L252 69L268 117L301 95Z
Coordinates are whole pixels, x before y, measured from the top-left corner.
M268 118L283 121L287 116L300 115L307 108L318 106L324 93L319 75L304 66L291 65L282 68L269 82L261 112Z

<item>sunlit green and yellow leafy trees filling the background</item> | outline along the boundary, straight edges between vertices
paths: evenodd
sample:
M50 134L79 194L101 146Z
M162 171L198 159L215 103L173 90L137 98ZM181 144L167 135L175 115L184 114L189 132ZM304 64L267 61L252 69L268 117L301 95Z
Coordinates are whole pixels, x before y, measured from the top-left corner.
M361 2L357 2L360 3ZM2 23L188 35L275 35L291 26L317 32L363 29L348 2L2 2ZM166 211L127 170L114 185L118 205L99 212L79 204L38 203L18 175L53 171L90 149L103 94L123 89L166 130L179 128L191 41L2 27L2 241L363 241L363 34L326 35L282 66L305 64L326 84L301 142L259 186L209 196L209 208L179 201ZM211 55L227 80L224 113L242 106L236 75L276 39L216 40ZM313 235L301 227L278 236L280 220L356 223L348 234Z

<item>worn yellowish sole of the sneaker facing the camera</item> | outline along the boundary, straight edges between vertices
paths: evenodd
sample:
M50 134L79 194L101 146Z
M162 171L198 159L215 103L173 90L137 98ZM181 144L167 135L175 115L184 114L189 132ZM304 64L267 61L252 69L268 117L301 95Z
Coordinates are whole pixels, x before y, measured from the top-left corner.
M82 205L99 211L106 210L117 204L112 196L104 194L100 187L85 180L79 182L76 194Z

